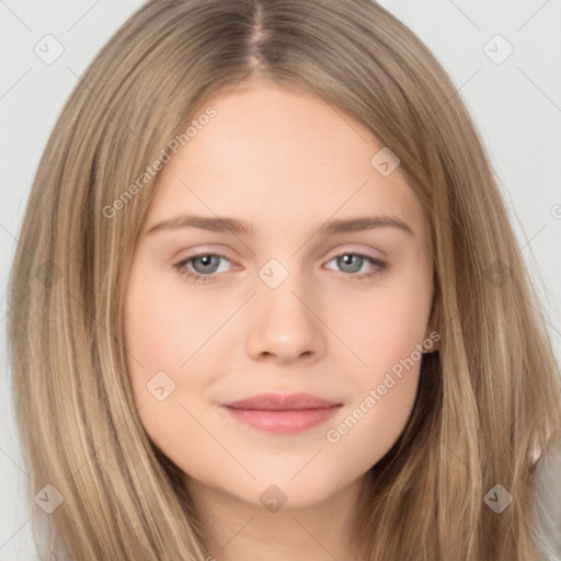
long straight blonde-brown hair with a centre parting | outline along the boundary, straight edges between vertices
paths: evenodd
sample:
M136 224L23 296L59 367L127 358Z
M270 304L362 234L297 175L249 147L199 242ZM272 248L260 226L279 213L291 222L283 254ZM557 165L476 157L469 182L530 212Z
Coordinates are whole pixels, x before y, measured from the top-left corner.
M41 160L10 278L31 497L46 484L64 497L51 514L33 505L51 530L49 559L208 557L179 470L137 414L124 289L152 162L210 94L249 76L320 95L374 131L430 218L440 350L423 358L405 431L367 474L355 559L537 560L531 471L561 435L540 302L454 84L370 0L150 1L81 77ZM496 484L514 497L502 513L484 501Z

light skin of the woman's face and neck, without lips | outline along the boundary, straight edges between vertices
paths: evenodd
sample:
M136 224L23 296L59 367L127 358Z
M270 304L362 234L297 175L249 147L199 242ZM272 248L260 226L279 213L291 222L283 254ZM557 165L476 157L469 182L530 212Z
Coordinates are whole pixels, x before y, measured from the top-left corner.
M185 473L209 556L351 559L365 473L405 427L421 362L393 376L336 443L327 433L434 333L426 218L399 167L383 176L370 163L383 144L321 98L257 79L222 96L207 100L216 117L162 169L135 250L125 334L139 416ZM150 232L185 215L242 219L252 231ZM374 216L411 232L320 230ZM227 259L210 257L217 254ZM205 283L174 267L195 255L182 270ZM266 280L282 271L287 276L273 288ZM163 400L147 389L158 371L175 385ZM342 407L288 435L220 408L263 392L307 392ZM286 497L276 512L262 502L273 484Z

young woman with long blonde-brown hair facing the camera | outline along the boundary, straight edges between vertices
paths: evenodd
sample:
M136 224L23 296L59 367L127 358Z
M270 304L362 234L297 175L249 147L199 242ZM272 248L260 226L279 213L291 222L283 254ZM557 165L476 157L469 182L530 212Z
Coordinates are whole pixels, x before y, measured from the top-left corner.
M378 4L145 4L20 242L14 400L61 558L541 559L539 304L461 100Z

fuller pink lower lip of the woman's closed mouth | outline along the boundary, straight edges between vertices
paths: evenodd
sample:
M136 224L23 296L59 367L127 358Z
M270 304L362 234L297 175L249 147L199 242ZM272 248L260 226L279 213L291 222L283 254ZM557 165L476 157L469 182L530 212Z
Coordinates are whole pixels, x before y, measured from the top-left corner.
M341 405L324 409L305 409L290 411L263 411L233 409L225 407L231 415L260 431L276 434L293 434L308 431L312 426L332 417Z

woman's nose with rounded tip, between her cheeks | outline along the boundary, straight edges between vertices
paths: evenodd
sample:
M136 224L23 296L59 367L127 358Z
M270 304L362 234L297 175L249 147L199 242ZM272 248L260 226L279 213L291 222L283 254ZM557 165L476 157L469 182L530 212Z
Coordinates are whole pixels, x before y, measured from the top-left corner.
M256 294L247 310L249 316L245 351L255 360L288 364L316 362L325 352L325 332L318 297L296 275L278 287L259 280Z

